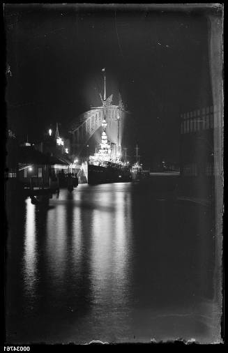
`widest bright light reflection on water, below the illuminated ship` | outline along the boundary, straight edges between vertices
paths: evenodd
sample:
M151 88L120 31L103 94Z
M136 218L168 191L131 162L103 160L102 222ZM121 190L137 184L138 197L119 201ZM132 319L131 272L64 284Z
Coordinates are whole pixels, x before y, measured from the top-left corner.
M130 328L130 211L127 184L113 184L96 195L91 213L91 339L111 336L115 341Z

